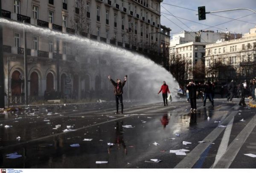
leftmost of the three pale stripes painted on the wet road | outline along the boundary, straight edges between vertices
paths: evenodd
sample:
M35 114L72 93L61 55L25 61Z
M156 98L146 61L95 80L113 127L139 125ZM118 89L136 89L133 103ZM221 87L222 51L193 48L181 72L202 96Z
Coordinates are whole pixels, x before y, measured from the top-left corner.
M238 111L233 111L227 118L221 123L225 125L230 122L230 120L238 113ZM192 168L193 165L200 159L201 154L209 147L209 145L215 141L215 139L223 132L224 128L216 127L212 132L204 138L204 143L198 144L187 156L181 160L174 168Z

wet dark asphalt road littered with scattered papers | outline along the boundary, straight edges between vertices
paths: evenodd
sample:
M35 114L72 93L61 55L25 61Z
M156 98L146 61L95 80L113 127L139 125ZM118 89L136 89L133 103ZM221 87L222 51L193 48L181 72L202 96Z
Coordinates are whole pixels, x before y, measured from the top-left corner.
M29 106L0 114L0 167L256 168L256 158L244 155L256 154L256 109L239 107L238 101L216 99L215 107L209 102L203 107L198 100L196 113L189 111L189 103L178 101L168 107L125 102L123 115L113 114L114 102ZM169 153L179 149L189 151L186 156ZM6 158L15 152L21 156Z

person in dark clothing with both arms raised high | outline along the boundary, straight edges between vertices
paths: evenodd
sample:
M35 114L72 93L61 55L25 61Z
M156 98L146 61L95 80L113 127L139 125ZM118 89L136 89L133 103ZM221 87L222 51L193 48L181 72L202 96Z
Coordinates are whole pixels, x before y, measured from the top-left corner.
M123 110L124 110L124 105L122 102L122 94L123 94L123 87L125 86L127 75L125 76L125 80L123 82L121 82L120 79L117 79L115 82L111 79L110 76L108 76L108 78L114 86L114 94L116 97L116 114L118 114L119 101L120 101L120 105L121 105L121 114L122 114Z

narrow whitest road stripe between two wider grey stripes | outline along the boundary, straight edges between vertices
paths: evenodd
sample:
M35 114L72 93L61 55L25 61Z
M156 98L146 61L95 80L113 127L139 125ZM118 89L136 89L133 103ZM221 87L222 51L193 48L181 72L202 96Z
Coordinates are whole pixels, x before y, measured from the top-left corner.
M215 167L217 162L221 159L221 157L227 151L228 142L230 140L231 129L232 129L232 126L233 126L233 121L234 121L234 117L232 118L232 120L227 125L227 128L225 129L224 135L221 139L221 144L218 147L218 152L217 152L217 155L215 157L215 161L214 161L212 167Z

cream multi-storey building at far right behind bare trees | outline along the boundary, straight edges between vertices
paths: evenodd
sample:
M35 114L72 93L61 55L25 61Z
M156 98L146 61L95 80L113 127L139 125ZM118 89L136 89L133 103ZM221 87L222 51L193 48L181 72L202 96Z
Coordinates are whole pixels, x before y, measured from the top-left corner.
M255 78L256 74L256 27L244 37L219 41L206 46L205 71L206 77L221 82L236 79ZM223 70L219 69L222 67Z

